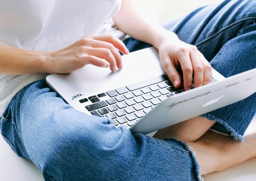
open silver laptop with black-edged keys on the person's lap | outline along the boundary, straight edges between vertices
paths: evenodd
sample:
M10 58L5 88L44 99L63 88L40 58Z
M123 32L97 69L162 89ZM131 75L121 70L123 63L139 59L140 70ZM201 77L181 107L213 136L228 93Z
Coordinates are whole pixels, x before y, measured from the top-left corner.
M49 86L75 109L106 116L114 126L148 134L241 101L256 92L256 69L224 78L212 69L212 83L175 89L154 47L122 56L123 69L87 65L47 76ZM192 84L193 88L193 84Z

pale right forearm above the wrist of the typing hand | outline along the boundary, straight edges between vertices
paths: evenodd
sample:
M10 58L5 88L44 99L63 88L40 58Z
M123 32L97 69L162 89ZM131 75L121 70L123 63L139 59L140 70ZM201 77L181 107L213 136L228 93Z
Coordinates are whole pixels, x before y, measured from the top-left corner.
M137 12L134 0L123 0L120 11L113 17L115 26L131 37L150 43L156 48L166 38L166 34L170 38L177 38L175 33L169 32L158 23L146 21Z

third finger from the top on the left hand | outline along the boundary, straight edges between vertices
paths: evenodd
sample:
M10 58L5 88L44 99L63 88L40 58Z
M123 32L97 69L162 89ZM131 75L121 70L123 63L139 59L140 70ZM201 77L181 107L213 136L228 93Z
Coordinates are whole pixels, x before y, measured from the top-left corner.
M105 59L110 63L111 71L116 72L116 59L109 49L84 47L84 52L86 52L89 55Z

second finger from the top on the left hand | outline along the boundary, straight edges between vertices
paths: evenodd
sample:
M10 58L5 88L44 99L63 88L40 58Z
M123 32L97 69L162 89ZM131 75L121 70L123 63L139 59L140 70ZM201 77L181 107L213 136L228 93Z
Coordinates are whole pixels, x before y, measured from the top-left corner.
M105 49L109 49L112 53L112 55L115 57L116 60L116 66L119 69L122 69L122 57L120 55L120 53L118 52L118 50L113 46L113 44L105 42L105 41L99 41L99 40L94 40L91 43L91 46L93 48L105 48Z

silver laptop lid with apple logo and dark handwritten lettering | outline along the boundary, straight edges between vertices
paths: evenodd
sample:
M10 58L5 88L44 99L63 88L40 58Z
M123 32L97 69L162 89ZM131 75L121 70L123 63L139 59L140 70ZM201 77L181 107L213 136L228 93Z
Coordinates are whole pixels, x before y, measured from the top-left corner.
M230 105L256 92L256 69L172 96L135 123L133 133L148 134Z

